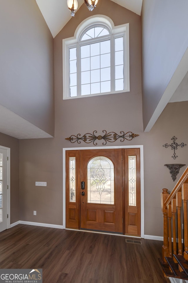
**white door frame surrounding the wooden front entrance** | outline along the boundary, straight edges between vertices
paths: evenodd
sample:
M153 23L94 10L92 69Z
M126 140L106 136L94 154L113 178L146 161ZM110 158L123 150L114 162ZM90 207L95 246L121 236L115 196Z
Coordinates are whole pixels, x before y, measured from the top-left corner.
M141 238L144 238L144 151L143 151L143 145L63 148L63 229L66 229L66 151L67 150L85 150L85 149L94 150L94 149L123 149L123 148L140 148L140 220L141 220L141 223L140 223L141 231L140 232L141 232Z

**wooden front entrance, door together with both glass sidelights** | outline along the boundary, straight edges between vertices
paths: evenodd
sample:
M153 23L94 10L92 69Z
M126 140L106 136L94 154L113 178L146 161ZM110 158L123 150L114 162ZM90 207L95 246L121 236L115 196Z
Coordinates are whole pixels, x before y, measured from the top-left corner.
M140 149L66 151L66 227L140 236Z

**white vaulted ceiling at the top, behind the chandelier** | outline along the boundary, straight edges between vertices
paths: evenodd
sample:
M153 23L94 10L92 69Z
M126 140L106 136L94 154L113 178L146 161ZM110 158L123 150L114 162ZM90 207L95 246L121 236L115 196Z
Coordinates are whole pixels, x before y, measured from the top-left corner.
M99 0L102 1L102 0ZM140 15L142 0L111 0L132 12ZM51 34L55 37L59 31L71 19L70 11L67 7L67 0L36 0L41 13L48 25ZM78 9L84 0L78 0ZM87 9L87 7L85 7ZM75 14L76 16L76 14Z

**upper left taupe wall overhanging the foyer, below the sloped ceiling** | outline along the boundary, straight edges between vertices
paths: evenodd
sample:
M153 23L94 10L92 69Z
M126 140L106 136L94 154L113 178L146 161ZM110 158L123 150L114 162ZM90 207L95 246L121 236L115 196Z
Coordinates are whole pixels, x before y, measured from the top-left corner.
M53 136L53 37L35 0L0 7L0 104Z

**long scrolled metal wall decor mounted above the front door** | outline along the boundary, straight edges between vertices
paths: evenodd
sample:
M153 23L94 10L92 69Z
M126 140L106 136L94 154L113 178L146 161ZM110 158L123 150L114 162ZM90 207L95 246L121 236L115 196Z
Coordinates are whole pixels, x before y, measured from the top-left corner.
M86 142L88 144L93 142L94 145L97 145L96 140L103 139L104 140L103 145L105 145L106 142L115 142L117 141L117 139L120 139L120 142L124 142L125 139L127 139L127 141L131 141L136 136L139 136L138 134L134 134L132 132L124 133L124 131L120 131L120 135L116 134L115 132L109 132L107 134L106 130L103 130L103 136L102 135L97 136L96 134L97 131L93 131L93 134L86 133L83 136L81 136L81 134L77 134L77 136L71 135L68 138L66 138L66 140L72 143L78 142L78 144L80 144L81 141Z

